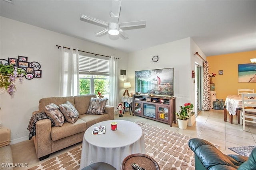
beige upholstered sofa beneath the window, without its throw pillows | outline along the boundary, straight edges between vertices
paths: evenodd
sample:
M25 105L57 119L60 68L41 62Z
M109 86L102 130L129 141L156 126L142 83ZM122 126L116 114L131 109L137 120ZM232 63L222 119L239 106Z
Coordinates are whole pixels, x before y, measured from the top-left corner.
M69 101L79 112L79 118L75 123L65 121L61 127L52 127L50 119L36 122L36 136L33 136L32 139L34 140L36 155L39 160L48 158L53 152L81 142L86 129L95 123L114 119L114 107L108 105L106 105L102 115L86 114L92 97L96 98L97 96L95 94L86 94L40 99L38 111L34 111L33 114L44 112L44 107L50 103L59 106Z

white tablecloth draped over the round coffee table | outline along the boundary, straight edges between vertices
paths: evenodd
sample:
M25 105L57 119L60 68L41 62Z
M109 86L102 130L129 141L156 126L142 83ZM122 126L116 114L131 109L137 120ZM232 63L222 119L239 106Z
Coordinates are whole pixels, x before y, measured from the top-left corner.
M116 131L111 130L113 121L117 122ZM93 127L100 125L106 126L106 133L92 135ZM131 121L102 121L84 133L80 170L95 162L106 162L120 170L122 160L134 153L146 153L141 127Z

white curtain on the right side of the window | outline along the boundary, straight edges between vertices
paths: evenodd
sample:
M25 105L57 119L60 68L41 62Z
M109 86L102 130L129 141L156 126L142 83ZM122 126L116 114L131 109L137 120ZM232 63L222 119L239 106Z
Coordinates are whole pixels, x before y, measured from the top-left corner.
M114 106L114 111L117 111L118 106L118 59L111 56L109 61L109 76L110 76L110 94L109 105Z

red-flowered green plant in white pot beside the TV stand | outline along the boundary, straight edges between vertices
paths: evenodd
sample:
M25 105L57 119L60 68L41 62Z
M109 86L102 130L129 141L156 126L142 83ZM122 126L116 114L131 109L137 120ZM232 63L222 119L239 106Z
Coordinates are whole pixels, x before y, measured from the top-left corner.
M178 127L180 129L187 129L188 119L195 114L193 112L193 104L185 103L184 106L180 106L180 111L174 112L177 115Z

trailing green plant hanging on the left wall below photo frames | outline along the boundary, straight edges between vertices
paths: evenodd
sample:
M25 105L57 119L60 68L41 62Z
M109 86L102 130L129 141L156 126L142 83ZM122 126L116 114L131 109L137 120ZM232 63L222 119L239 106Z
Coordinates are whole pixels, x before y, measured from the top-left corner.
M24 75L25 71L22 68L0 63L0 92L7 90L9 95L13 96L16 91L16 78L19 78L19 82L22 83Z

